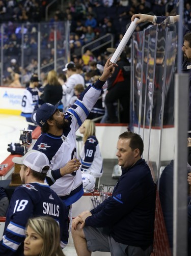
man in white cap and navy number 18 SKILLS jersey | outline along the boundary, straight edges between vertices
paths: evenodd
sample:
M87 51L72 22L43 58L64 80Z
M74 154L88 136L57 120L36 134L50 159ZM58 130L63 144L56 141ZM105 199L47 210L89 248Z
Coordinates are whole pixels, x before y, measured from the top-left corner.
M30 150L23 157L13 158L12 161L21 165L20 177L23 185L17 187L11 197L4 235L0 242L0 254L23 255L26 223L33 216L43 215L59 222L61 244L64 248L68 242L67 209L59 196L44 183L49 169L48 158L42 152Z

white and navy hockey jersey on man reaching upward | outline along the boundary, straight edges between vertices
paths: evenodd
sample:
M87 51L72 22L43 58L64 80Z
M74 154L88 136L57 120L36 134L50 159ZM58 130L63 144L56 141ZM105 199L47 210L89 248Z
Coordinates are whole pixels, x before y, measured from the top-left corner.
M41 134L36 141L33 149L45 153L50 161L51 170L58 170L77 157L75 132L95 105L103 84L104 82L98 80L95 85L90 85L65 113L70 125L64 129L62 136ZM49 171L47 175L51 176L51 172ZM51 189L64 200L67 206L77 201L84 194L80 169L56 180Z

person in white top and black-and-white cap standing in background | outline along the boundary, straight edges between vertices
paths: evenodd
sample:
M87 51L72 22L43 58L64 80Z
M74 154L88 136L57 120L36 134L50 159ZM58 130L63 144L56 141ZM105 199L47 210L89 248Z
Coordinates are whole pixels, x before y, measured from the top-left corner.
M74 95L74 86L77 84L83 84L85 86L85 81L82 75L76 72L76 67L73 62L68 62L63 69L66 72L67 81L63 85L63 104L64 104L64 112L69 108L69 103L71 97Z

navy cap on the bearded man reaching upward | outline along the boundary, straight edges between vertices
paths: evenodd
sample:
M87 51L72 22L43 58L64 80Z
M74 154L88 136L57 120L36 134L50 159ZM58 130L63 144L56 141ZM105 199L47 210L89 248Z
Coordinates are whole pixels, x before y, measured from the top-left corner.
M36 122L41 127L47 122L47 120L50 118L50 116L53 115L53 113L58 109L58 106L60 105L60 101L56 105L52 105L50 103L44 103L42 106L40 106L39 109L37 109L36 113Z

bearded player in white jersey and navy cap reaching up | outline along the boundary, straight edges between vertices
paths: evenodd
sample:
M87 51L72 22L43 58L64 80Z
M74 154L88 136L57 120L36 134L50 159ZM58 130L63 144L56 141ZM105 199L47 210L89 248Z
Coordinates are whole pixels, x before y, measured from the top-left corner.
M66 113L55 106L43 104L36 113L36 122L41 126L42 134L34 149L45 153L50 161L46 180L51 188L70 206L83 194L80 163L76 155L75 132L85 121L100 96L105 81L113 74L116 64L107 60L102 75L75 101ZM66 164L72 161L73 171L66 170Z

